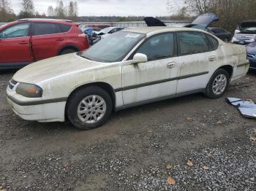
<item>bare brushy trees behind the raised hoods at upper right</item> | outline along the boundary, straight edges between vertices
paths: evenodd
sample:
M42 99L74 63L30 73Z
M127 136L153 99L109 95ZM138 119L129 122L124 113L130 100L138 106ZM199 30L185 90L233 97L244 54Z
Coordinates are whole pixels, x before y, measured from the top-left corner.
M170 6L175 4L177 0L167 1L170 12L175 12ZM183 0L182 5L174 13L177 17L192 19L206 12L214 12L219 16L219 21L214 26L220 26L230 32L235 31L242 20L256 20L255 0Z

